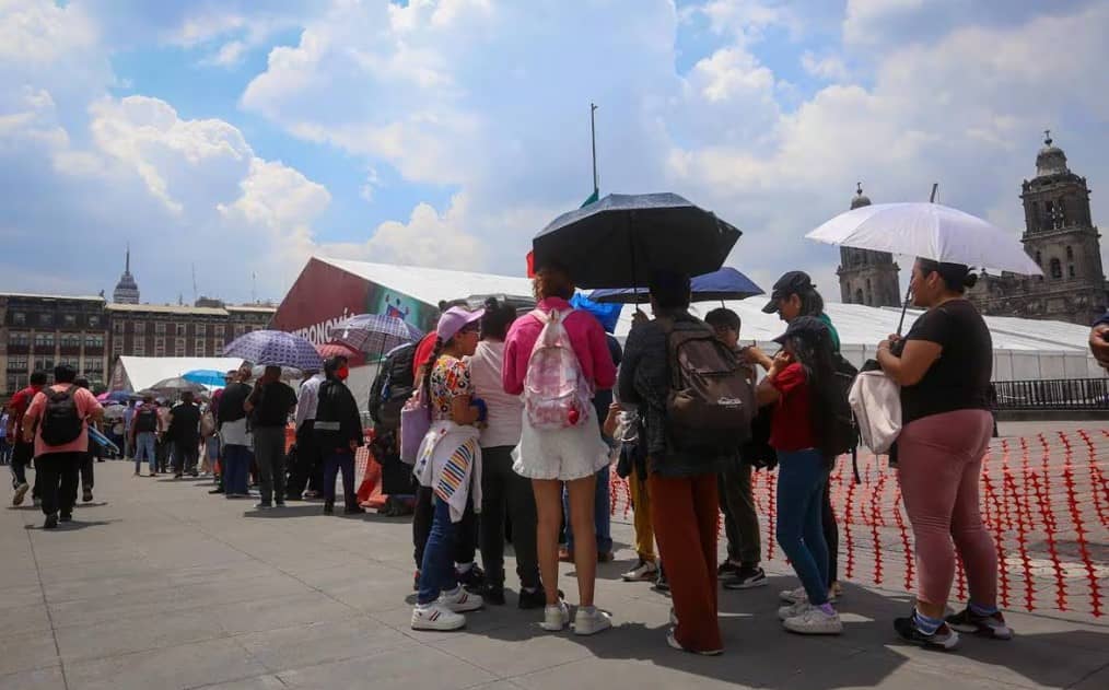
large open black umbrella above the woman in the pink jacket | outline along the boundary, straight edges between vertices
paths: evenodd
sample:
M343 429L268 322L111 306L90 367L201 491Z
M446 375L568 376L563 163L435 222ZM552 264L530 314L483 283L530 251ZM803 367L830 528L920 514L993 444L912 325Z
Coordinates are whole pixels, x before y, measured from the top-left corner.
M676 194L609 194L554 219L531 246L537 268L562 264L579 287L637 287L657 270L716 271L741 234Z

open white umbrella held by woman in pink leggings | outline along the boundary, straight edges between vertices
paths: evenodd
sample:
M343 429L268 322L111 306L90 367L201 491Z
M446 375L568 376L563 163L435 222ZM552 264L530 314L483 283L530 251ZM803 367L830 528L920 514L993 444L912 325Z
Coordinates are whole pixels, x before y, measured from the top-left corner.
M1011 233L969 213L934 203L862 206L841 213L805 236L826 244L973 268L1044 275Z

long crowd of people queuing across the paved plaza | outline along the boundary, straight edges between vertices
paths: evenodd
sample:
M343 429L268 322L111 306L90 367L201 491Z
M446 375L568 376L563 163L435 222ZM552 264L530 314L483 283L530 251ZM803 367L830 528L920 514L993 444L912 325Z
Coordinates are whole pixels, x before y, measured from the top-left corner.
M953 649L959 632L1013 635L997 606L996 550L979 514L991 341L964 298L974 281L966 266L918 260L912 292L925 313L907 335L878 344L875 365L901 386L904 427L893 460L919 574L914 608L893 627L938 649ZM669 646L722 653L719 589L767 584L751 473L771 464L779 467L775 537L800 580L781 593L782 625L800 635L843 631L828 475L842 451L844 361L820 293L801 272L774 285L764 311L786 325L770 354L741 344L734 312L694 316L689 276L657 272L649 290L652 315L637 312L622 352L588 308L571 306L570 272L549 265L536 275L533 310L521 314L498 300L477 311L444 304L434 333L389 353L372 393L372 443L386 485L414 493L414 629L456 630L467 613L503 605L509 535L520 609L543 609L547 631L611 628L594 581L598 561L612 558L607 480L614 463L631 487L638 556L622 577L671 592ZM1109 315L1090 336L1109 367L1107 337ZM144 461L150 476L166 473L169 458L176 477L212 471L211 493L227 499L250 497L253 475L260 510L318 497L330 515L342 473L344 513L362 513L354 458L368 439L347 375L346 359L332 357L295 392L281 367L266 366L251 384L244 364L204 407L187 393L172 408L146 396L123 420L125 455L136 477ZM403 407L389 407L393 400ZM88 430L102 417L67 365L51 385L35 373L9 403L13 503L30 490L33 458L33 497L48 529L72 520L79 476L91 500ZM287 455L289 419L296 445ZM969 600L949 615L956 554ZM574 566L572 616L557 586L560 561Z

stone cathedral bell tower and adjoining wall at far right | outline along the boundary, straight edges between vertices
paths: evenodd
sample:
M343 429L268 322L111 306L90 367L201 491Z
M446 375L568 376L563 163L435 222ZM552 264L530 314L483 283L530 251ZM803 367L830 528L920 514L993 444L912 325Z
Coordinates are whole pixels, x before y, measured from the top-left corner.
M1025 251L1042 276L987 276L970 291L986 314L1090 324L1109 304L1100 234L1090 216L1086 177L1067 168L1050 134L1036 156L1036 176L1025 180Z

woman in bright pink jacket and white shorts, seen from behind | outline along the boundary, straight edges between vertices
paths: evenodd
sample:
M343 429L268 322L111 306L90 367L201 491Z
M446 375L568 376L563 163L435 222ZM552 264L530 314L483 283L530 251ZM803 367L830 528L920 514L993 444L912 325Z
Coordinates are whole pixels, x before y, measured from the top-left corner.
M547 266L535 280L538 311L562 314L562 325L577 356L582 376L591 390L611 388L615 383L615 365L609 354L604 331L592 315L573 311L569 300L574 286L570 274L559 266ZM525 378L536 342L545 322L537 314L521 316L512 324L505 341L502 383L511 395L523 393ZM542 628L561 630L570 621L570 612L558 596L558 531L562 521L561 483L570 494L570 524L582 544L596 540L593 528L593 484L596 473L609 463L609 448L601 439L600 425L592 405L584 405L582 417L571 426L538 429L523 412L520 445L516 449L512 469L531 479L538 513L537 546L539 570L546 588L547 608ZM593 606L597 578L597 549L577 549L574 565L581 605L574 617L577 635L594 635L612 626L609 617Z

